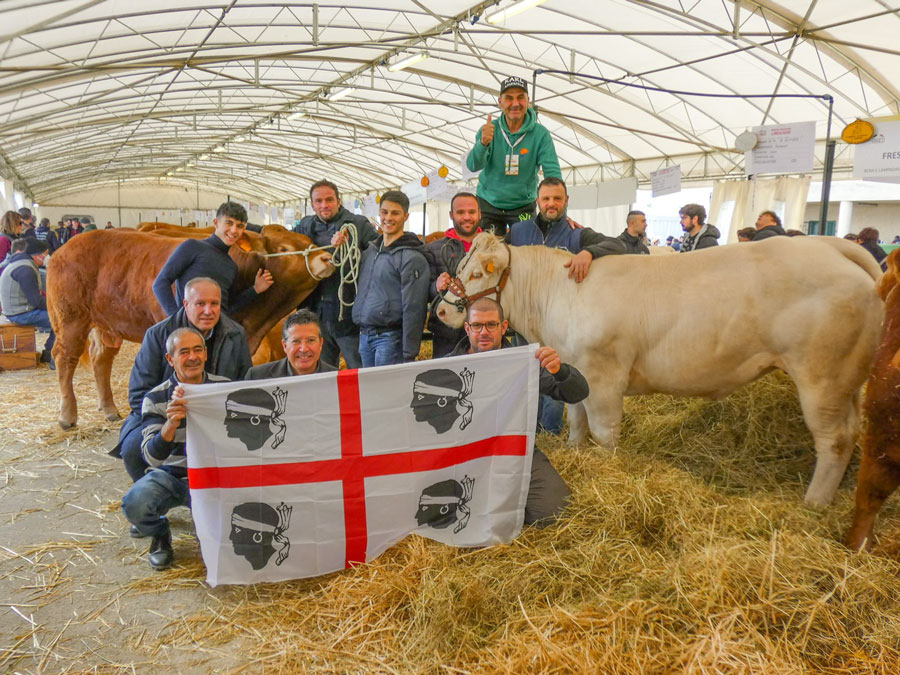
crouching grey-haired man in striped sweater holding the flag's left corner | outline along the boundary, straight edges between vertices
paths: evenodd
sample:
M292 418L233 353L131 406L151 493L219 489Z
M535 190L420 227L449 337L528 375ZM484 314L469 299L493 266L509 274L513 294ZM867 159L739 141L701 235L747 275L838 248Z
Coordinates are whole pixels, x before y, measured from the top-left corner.
M153 537L150 566L166 569L174 559L165 517L176 506L190 506L185 458L187 401L181 384L228 382L206 372L206 341L196 328L178 328L166 339L166 361L173 374L144 397L141 452L150 470L122 498L122 512L142 537Z

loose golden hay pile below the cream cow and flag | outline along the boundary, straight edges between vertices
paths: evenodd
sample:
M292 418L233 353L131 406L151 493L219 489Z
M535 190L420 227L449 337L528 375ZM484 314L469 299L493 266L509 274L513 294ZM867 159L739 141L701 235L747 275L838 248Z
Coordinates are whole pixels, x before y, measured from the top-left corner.
M900 672L894 554L838 543L855 466L835 505L802 506L814 456L785 376L719 403L632 399L615 453L538 444L573 489L558 527L476 551L411 537L327 577L216 588L160 643L254 672ZM878 531L900 539L893 503ZM131 590L196 587L186 546Z

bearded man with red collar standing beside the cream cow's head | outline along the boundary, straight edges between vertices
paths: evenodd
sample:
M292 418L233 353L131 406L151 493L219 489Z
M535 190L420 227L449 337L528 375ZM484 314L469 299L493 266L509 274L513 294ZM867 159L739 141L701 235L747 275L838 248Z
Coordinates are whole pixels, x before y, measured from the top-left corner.
M450 222L453 223L443 239L425 245L425 259L431 272L428 299L434 300L447 290L450 279L456 276L459 262L469 252L475 235L481 232L481 209L478 198L471 192L458 192L450 200ZM432 307L434 309L434 307ZM432 358L438 359L453 351L466 336L464 328L450 328L432 311L428 317L432 335Z

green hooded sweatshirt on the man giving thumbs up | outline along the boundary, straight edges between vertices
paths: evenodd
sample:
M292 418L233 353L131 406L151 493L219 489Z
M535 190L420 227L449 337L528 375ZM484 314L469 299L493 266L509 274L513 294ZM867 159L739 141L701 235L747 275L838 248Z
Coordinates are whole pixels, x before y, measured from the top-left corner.
M525 112L525 123L516 133L506 126L506 117L493 121L494 140L487 147L481 144L481 129L475 135L475 147L469 152L466 166L469 171L481 171L478 177L478 196L498 209L516 209L537 199L538 167L544 170L544 178L562 178L556 148L550 132L538 124L534 108ZM509 137L510 149L503 133ZM517 143L517 141L524 138ZM519 156L519 175L506 175L506 156Z

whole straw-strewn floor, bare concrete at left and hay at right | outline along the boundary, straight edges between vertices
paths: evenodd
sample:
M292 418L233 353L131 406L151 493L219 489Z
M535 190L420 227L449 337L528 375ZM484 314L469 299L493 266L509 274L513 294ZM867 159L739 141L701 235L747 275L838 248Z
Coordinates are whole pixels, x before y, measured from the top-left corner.
M114 371L125 410L130 359ZM318 579L209 589L187 510L154 573L118 502L86 371L79 427L55 376L0 374L0 668L16 672L896 673L900 514L874 555L840 545L835 503L803 506L814 454L796 390L626 402L619 447L538 445L573 491L556 527L489 549L410 537Z

